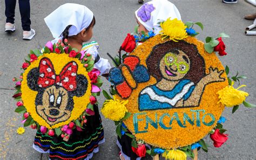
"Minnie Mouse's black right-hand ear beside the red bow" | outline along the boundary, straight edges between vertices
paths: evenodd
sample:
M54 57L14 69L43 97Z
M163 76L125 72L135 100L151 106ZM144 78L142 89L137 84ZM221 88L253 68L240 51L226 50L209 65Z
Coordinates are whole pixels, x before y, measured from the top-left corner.
M77 97L83 96L87 91L88 80L83 74L78 74L76 77L76 81L77 81L76 90L69 93L71 96L77 96Z

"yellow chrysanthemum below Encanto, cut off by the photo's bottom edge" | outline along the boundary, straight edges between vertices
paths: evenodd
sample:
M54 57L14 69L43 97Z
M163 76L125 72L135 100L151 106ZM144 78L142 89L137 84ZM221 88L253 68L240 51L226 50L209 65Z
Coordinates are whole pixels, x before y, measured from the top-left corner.
M163 157L165 157L165 159L173 159L173 160L186 160L187 159L187 155L185 154L185 152L181 151L181 150L166 150L163 153Z

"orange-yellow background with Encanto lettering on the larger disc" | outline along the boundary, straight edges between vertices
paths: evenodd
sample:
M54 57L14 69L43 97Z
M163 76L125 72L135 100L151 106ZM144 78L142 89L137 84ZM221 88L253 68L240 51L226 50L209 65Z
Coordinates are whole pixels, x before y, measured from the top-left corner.
M204 43L194 37L187 37L183 40L196 46L198 53L205 62L205 74L210 74L215 69L215 73L221 74L222 80L205 85L199 106L154 110L139 110L138 97L144 88L157 83L156 78L151 75L149 81L139 83L138 87L132 91L131 96L127 99L129 103L127 103L126 108L132 115L124 123L132 134L136 136L137 140L144 140L145 143L155 147L175 149L198 142L215 127L225 107L218 103L217 92L228 86L227 75L217 55L215 53L207 53L204 49ZM146 61L153 47L167 41L162 40L161 36L157 35L139 45L131 55L136 55L140 59L140 65L144 65L149 69ZM118 99L122 98L119 96ZM193 125L188 122L188 117L191 120L194 119ZM186 120L185 123L184 119Z

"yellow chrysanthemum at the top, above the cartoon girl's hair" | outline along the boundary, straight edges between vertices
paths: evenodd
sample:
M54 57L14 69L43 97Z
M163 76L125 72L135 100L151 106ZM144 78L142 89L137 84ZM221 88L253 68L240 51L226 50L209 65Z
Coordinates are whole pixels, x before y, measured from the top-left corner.
M177 42L178 40L188 37L185 24L177 18L172 20L168 18L165 22L161 23L160 26L163 29L160 31L161 36L164 36L162 39L169 37L171 40Z

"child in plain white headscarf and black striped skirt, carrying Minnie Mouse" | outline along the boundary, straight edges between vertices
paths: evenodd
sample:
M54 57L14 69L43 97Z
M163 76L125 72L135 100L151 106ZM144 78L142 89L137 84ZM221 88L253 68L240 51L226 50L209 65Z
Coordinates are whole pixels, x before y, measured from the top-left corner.
M90 9L84 5L67 3L59 6L45 19L52 36L58 40L68 40L72 48L77 48L82 54L90 53L95 59L95 67L100 74L106 74L110 68L108 60L100 58L97 51L98 44L93 41L84 44L92 37L95 17ZM65 40L66 41L66 40ZM99 151L98 145L104 143L102 120L97 105L93 105L95 115L85 116L87 120L84 129L73 129L69 141L62 137L48 136L37 131L33 148L41 153L49 153L50 159L90 159L93 153Z

